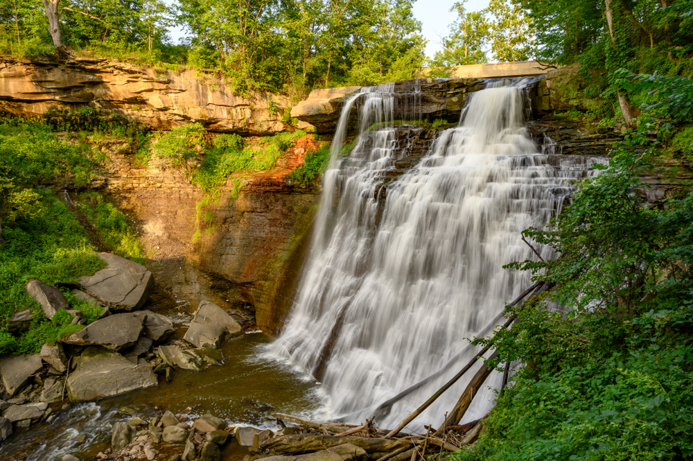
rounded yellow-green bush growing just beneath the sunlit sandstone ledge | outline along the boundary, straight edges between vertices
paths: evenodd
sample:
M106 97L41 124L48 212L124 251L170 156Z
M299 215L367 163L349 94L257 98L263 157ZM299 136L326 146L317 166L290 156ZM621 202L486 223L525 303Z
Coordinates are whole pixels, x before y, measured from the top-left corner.
M190 168L189 159L195 159L204 148L204 127L200 123L177 126L169 132L152 134L152 153L173 168Z

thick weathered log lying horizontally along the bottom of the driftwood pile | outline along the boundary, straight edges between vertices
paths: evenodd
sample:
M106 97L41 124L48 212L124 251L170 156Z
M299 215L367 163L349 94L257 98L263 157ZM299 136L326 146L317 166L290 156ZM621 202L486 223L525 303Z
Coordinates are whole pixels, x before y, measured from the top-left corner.
M334 435L321 434L297 434L281 435L267 440L259 446L263 453L272 451L283 455L296 455L325 450L341 444L354 444L365 451L394 451L403 446L412 446L414 442L408 440L391 440L376 437L335 437Z

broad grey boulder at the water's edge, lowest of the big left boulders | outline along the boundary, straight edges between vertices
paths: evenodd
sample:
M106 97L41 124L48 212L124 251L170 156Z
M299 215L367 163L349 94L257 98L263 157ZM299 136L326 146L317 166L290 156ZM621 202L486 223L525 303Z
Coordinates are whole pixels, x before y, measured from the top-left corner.
M67 379L67 392L71 401L90 401L157 384L150 365L135 365L116 352L89 347Z

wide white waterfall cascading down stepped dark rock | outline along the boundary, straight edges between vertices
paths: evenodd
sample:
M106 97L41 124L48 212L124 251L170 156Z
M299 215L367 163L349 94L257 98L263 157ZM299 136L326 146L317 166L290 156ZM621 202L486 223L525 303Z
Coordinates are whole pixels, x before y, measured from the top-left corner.
M531 284L527 273L502 268L533 256L520 232L558 213L574 180L599 160L536 146L524 127L524 82L497 80L469 95L459 125L389 182L409 155L392 123L394 87L371 87L345 103L295 306L272 345L325 385L329 417L360 423L437 373L378 416L378 426L395 426L480 349L467 338L489 334L505 303ZM405 100L416 101L416 90ZM358 138L342 155L355 106ZM441 424L480 366L407 429ZM491 374L464 421L492 407L489 385L497 388L500 374Z

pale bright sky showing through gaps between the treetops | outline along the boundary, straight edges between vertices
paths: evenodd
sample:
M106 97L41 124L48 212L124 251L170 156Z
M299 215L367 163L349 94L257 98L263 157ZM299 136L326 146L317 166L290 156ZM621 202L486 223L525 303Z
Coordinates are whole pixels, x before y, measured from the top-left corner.
M164 0L169 5L173 0ZM414 3L414 17L421 21L421 33L428 39L426 55L432 58L436 51L441 50L441 38L448 35L448 26L457 19L455 13L450 12L454 0L418 0ZM489 0L467 0L464 7L466 11L483 10L489 6ZM180 27L170 29L171 37L175 42L185 33Z

